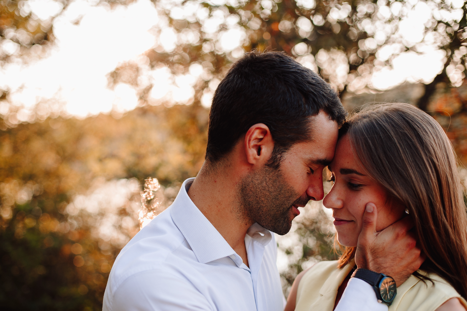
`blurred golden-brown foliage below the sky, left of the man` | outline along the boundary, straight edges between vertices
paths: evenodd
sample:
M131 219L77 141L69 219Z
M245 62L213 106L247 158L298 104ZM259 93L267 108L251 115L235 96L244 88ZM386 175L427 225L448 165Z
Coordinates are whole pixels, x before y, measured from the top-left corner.
M157 176L167 207L203 162L207 113L158 106L2 131L2 309L101 310L113 260L145 216L138 180Z

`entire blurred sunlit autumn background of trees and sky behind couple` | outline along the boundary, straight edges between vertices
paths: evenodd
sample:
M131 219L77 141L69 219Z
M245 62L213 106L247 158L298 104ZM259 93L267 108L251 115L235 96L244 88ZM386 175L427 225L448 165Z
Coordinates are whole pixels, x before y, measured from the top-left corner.
M1 305L101 310L120 249L196 176L212 94L253 48L318 72L349 111L417 105L466 178L466 13L459 0L0 0ZM285 294L336 258L320 202L276 238Z

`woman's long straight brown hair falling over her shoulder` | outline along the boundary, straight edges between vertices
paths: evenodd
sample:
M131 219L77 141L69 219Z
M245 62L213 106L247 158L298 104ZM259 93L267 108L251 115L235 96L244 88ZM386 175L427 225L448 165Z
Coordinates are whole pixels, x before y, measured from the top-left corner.
M340 137L346 134L371 177L413 217L426 254L420 270L467 297L466 205L457 158L441 126L410 104L376 104L350 117L340 129ZM345 248L339 267L354 256L355 248Z

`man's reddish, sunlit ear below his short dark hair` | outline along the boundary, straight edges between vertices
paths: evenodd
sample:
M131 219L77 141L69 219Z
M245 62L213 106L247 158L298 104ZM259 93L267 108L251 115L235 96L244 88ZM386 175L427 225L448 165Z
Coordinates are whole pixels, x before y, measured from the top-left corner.
M245 134L245 155L248 163L266 163L273 149L274 140L266 124L258 123L248 129Z

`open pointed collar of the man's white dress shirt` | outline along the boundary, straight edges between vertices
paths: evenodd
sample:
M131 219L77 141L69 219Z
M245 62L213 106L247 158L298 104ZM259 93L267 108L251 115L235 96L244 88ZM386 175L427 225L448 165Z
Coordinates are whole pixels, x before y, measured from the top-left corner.
M195 180L194 177L185 180L180 187L180 191L170 207L172 220L190 244L198 262L209 263L219 258L234 255L235 251L232 247L188 196L187 191L193 180ZM247 234L264 246L272 239L269 230L258 223L254 223L248 228Z

